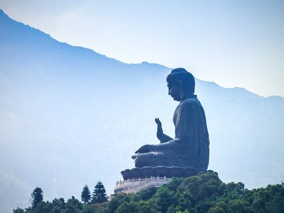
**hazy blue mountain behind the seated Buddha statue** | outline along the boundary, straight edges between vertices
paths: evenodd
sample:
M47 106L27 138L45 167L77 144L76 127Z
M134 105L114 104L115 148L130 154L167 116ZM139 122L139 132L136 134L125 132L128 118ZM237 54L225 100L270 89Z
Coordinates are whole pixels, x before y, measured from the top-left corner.
M158 143L155 117L174 136L178 102L168 67L125 64L60 43L0 11L0 209L80 198L101 180L111 194L141 145ZM264 187L283 180L284 98L197 80L207 114L209 168L224 181Z

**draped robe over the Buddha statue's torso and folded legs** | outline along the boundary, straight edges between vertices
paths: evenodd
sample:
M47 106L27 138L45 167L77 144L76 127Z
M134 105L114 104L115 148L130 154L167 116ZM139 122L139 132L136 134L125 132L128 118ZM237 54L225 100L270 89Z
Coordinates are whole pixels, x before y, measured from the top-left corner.
M173 123L175 139L151 145L150 152L138 154L136 160L145 161L147 158L145 162L153 167L164 165L207 170L209 134L204 109L195 95L180 102Z

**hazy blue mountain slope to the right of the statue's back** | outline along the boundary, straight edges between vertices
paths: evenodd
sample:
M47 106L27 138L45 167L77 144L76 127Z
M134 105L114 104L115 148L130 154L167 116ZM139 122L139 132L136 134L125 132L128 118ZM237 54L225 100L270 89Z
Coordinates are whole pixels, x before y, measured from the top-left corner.
M283 97L263 98L208 82L199 94L200 99L206 97L210 165L220 177L242 181L247 187L280 182L284 175Z

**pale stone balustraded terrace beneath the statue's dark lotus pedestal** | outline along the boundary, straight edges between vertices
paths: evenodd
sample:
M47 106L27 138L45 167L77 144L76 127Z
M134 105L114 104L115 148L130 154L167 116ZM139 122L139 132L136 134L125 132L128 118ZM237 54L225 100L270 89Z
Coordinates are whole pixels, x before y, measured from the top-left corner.
M137 193L141 190L147 190L151 187L160 187L172 180L171 178L138 178L138 179L131 179L131 180L123 180L117 181L116 187L114 187L114 194L119 193Z

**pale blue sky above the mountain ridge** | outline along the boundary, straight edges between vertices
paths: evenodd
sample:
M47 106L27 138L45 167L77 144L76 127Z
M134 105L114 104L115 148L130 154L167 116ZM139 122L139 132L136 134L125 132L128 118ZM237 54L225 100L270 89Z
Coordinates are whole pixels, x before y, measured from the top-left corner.
M16 21L126 63L284 97L284 1L0 0Z

